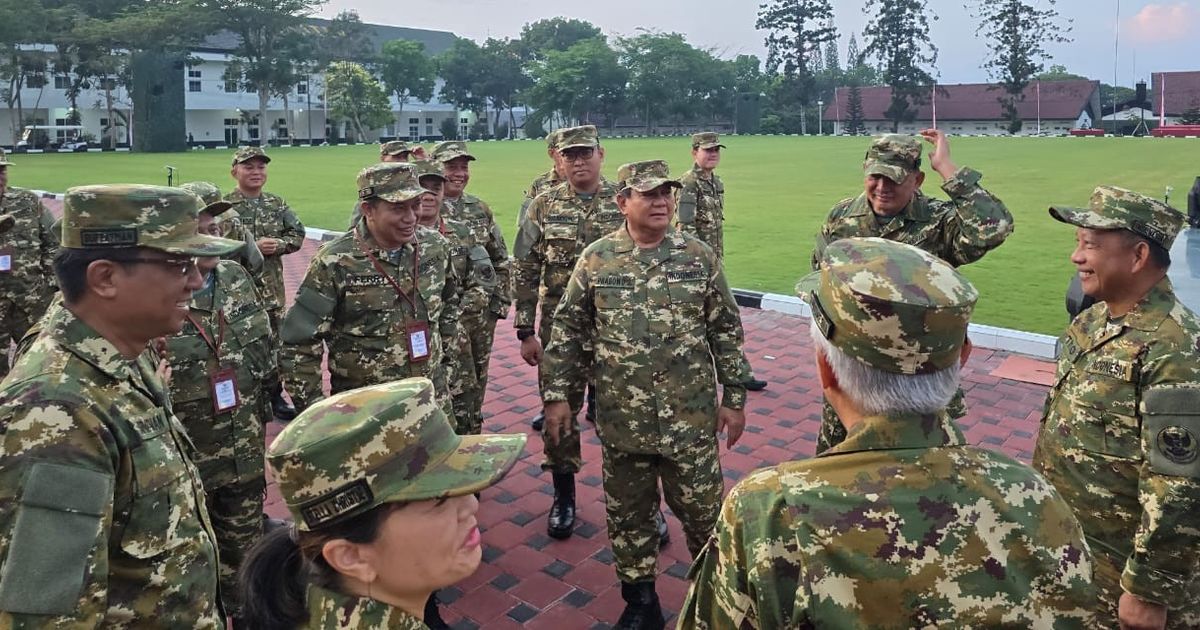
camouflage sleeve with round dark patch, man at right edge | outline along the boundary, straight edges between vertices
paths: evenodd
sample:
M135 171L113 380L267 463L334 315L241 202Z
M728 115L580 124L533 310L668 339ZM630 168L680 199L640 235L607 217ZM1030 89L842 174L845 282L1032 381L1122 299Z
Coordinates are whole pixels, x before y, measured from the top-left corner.
M1192 601L1190 586L1200 574L1200 530L1195 527L1200 373L1195 368L1182 373L1180 362L1176 354L1174 361L1147 364L1154 372L1140 403L1144 460L1138 496L1142 512L1121 575L1124 590L1171 608ZM1187 362L1194 361L1188 358Z

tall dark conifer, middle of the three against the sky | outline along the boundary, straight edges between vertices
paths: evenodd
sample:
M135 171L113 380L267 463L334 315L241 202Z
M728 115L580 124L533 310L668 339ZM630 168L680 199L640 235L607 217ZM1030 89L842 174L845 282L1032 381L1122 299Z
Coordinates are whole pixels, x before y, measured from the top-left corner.
M934 84L924 67L937 62L937 47L929 40L926 1L868 0L863 11L875 17L863 31L865 54L880 61L883 83L892 88L884 115L895 132L901 122L916 118L914 106L929 98Z

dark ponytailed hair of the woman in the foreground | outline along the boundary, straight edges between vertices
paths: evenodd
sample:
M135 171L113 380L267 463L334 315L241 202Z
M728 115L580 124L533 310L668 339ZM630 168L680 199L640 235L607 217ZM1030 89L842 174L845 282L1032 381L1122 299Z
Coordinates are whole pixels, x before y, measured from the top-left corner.
M385 503L317 532L281 527L259 539L238 572L241 620L246 628L292 630L308 620L308 584L340 590L340 578L322 548L330 540L373 542L379 527L403 503ZM293 539L293 536L295 536Z

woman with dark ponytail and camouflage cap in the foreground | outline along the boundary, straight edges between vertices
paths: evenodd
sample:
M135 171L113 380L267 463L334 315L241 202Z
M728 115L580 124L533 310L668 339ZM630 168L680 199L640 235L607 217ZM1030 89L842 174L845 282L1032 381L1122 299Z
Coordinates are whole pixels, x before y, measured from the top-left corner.
M503 479L524 442L456 436L424 378L310 407L268 449L295 524L246 559L247 626L427 628L433 592L482 559L473 493Z

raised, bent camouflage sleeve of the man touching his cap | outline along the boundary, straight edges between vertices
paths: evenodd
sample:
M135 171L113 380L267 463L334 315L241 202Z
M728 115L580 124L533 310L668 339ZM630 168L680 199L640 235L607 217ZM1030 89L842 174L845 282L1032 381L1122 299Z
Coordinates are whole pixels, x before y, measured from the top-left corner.
M960 168L942 185L950 196L954 212L943 226L947 251L940 257L954 266L973 263L1000 247L1013 233L1013 215L1008 206L979 186L983 175Z

